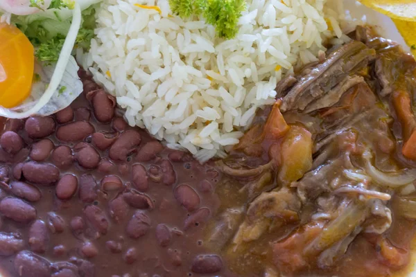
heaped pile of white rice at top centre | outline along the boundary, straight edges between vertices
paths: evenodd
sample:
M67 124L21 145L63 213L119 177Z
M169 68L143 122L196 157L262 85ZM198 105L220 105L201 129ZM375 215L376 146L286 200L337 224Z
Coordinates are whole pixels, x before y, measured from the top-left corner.
M317 60L327 39L348 40L341 1L247 4L239 34L223 40L202 18L172 16L168 0L104 0L91 50L78 60L116 96L130 125L200 161L224 157L293 66Z

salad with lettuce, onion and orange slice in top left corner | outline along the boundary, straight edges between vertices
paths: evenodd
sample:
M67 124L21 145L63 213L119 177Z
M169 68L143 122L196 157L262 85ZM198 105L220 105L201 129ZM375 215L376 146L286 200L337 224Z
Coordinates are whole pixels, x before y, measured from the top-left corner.
M101 0L0 1L0 116L46 116L83 91L74 48L89 48Z

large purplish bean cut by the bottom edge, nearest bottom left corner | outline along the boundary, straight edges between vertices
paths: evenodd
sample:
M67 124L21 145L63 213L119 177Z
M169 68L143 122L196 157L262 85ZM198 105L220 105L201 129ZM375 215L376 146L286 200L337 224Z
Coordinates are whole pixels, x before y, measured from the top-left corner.
M15 271L21 277L50 277L50 264L30 251L21 251L15 258Z

